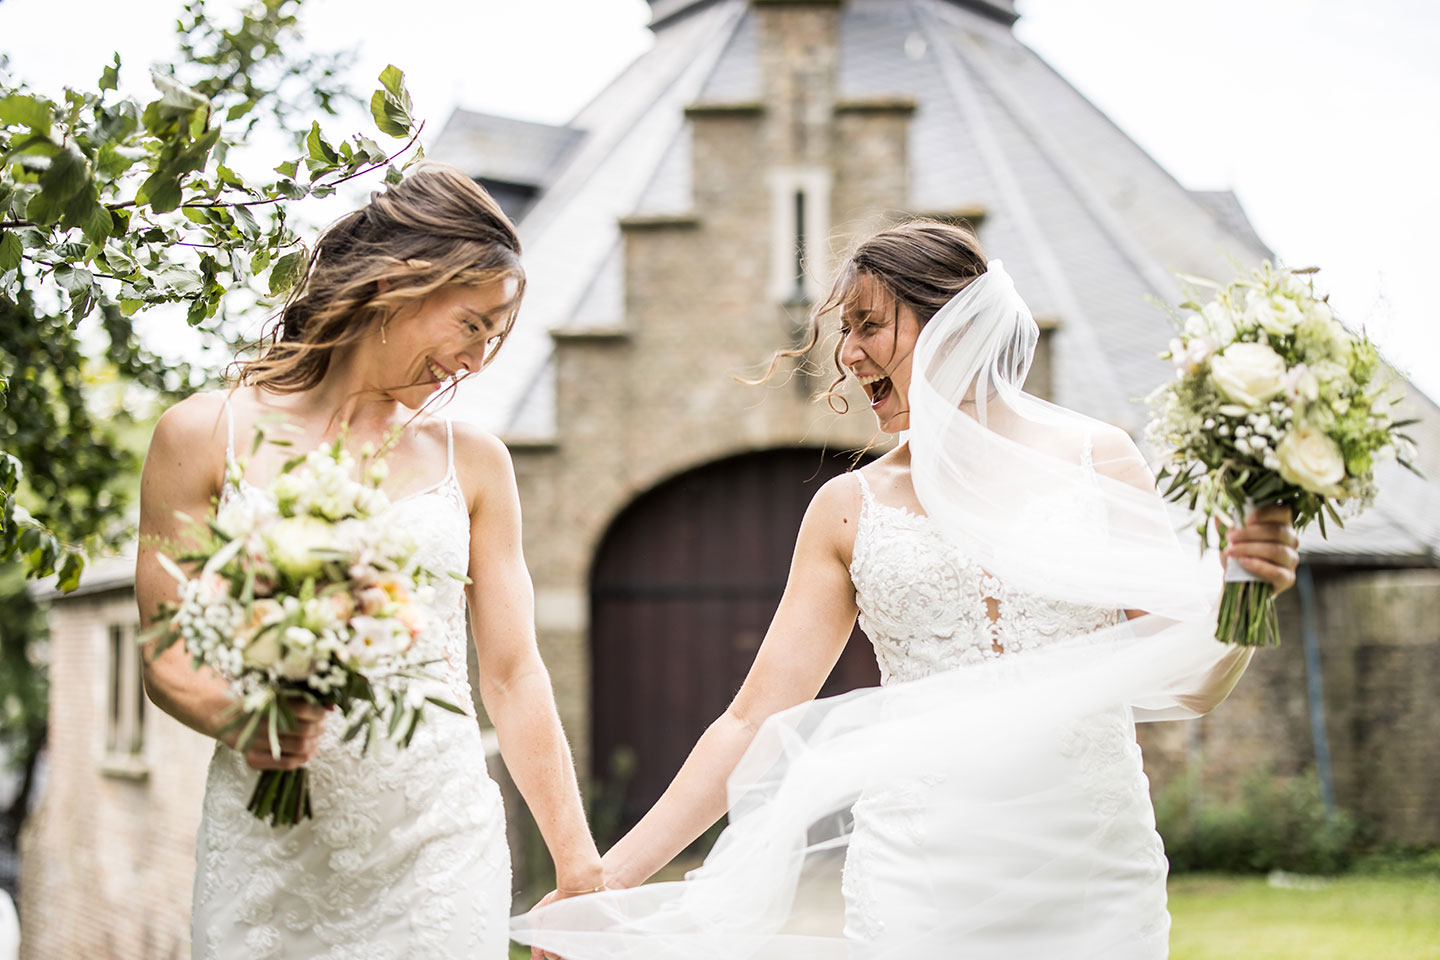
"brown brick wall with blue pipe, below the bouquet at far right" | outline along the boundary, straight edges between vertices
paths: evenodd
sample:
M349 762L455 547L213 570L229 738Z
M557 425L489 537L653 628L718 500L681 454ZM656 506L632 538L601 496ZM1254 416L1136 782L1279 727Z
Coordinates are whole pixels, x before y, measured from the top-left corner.
M1195 764L1224 793L1251 770L1315 767L1300 596L1280 597L1282 645L1200 721L1140 730L1152 792ZM1316 626L1335 794L1378 836L1440 845L1440 571L1318 571Z

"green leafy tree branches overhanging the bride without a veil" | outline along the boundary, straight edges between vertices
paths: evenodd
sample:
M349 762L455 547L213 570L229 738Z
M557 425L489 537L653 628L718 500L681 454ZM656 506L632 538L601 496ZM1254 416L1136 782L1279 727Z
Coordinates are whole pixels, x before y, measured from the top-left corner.
M294 201L373 171L393 183L400 157L420 157L423 124L393 66L372 114L379 138L397 142L325 132L347 98L344 58L304 49L298 9L256 0L225 29L193 0L177 24L181 58L151 71L145 102L120 94L118 56L59 99L0 72L0 561L20 557L29 576L59 571L72 587L86 548L125 535L128 495L111 481L134 455L89 409L85 379L98 361L161 396L196 386L144 348L138 311L171 305L213 338L229 294L282 296L304 276ZM251 135L276 119L297 151L240 173ZM81 321L104 335L86 350Z

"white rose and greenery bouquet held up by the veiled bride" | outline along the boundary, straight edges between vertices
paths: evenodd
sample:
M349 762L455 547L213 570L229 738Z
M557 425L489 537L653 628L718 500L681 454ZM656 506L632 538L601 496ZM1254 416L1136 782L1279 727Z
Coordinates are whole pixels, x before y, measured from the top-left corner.
M1400 394L1375 345L1335 320L1313 273L1263 263L1228 286L1182 278L1215 292L1181 305L1165 354L1175 379L1149 397L1149 439L1168 450L1156 481L1201 514L1205 543L1212 518L1224 547L1227 531L1264 504L1290 507L1297 530L1319 521L1323 535L1326 515L1342 524L1336 505L1355 515L1374 501L1378 458L1416 469L1403 433L1414 420L1392 419ZM1234 561L1215 636L1279 642L1270 584Z

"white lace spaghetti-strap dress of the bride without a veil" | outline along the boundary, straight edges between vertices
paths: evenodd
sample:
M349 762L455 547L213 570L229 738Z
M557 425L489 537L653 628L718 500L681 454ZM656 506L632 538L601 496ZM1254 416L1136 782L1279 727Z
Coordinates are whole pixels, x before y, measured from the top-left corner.
M229 413L229 407L226 407ZM455 476L397 499L390 520L415 534L431 570L465 570L469 514ZM226 462L233 461L233 423ZM229 472L229 471L228 471ZM245 481L223 498L268 497ZM498 960L508 947L510 852L500 790L485 771L465 668L465 599L441 577L426 636L444 691L467 711L428 710L405 750L341 743L325 721L308 764L314 818L292 828L255 819L258 773L217 744L196 843L196 960Z

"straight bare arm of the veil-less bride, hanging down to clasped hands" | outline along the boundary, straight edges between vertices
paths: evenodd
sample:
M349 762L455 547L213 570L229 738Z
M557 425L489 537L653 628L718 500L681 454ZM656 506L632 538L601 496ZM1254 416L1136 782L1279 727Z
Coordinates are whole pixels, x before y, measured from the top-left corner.
M480 658L480 697L500 753L554 858L560 891L598 888L595 849L570 746L540 659L534 589L520 540L520 494L510 452L495 438L456 425L456 455L474 478L469 535L469 620Z

